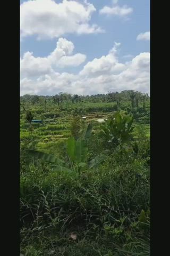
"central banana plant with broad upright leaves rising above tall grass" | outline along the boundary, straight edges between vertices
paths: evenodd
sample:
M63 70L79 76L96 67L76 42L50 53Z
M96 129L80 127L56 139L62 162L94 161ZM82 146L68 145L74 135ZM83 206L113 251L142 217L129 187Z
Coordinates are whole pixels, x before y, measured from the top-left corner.
M64 162L52 154L47 154L37 150L28 150L29 155L34 158L42 159L43 161L51 164L54 171L78 171L80 173L87 167L87 140L90 138L92 125L88 124L82 136L75 140L70 137L66 143L66 152L70 161L70 168L64 166ZM91 167L92 165L90 165Z

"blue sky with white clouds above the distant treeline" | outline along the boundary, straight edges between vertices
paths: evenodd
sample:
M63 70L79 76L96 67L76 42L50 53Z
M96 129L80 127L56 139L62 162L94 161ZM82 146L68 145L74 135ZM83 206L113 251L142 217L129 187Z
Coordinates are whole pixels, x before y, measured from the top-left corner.
M20 1L20 95L150 94L149 0Z

